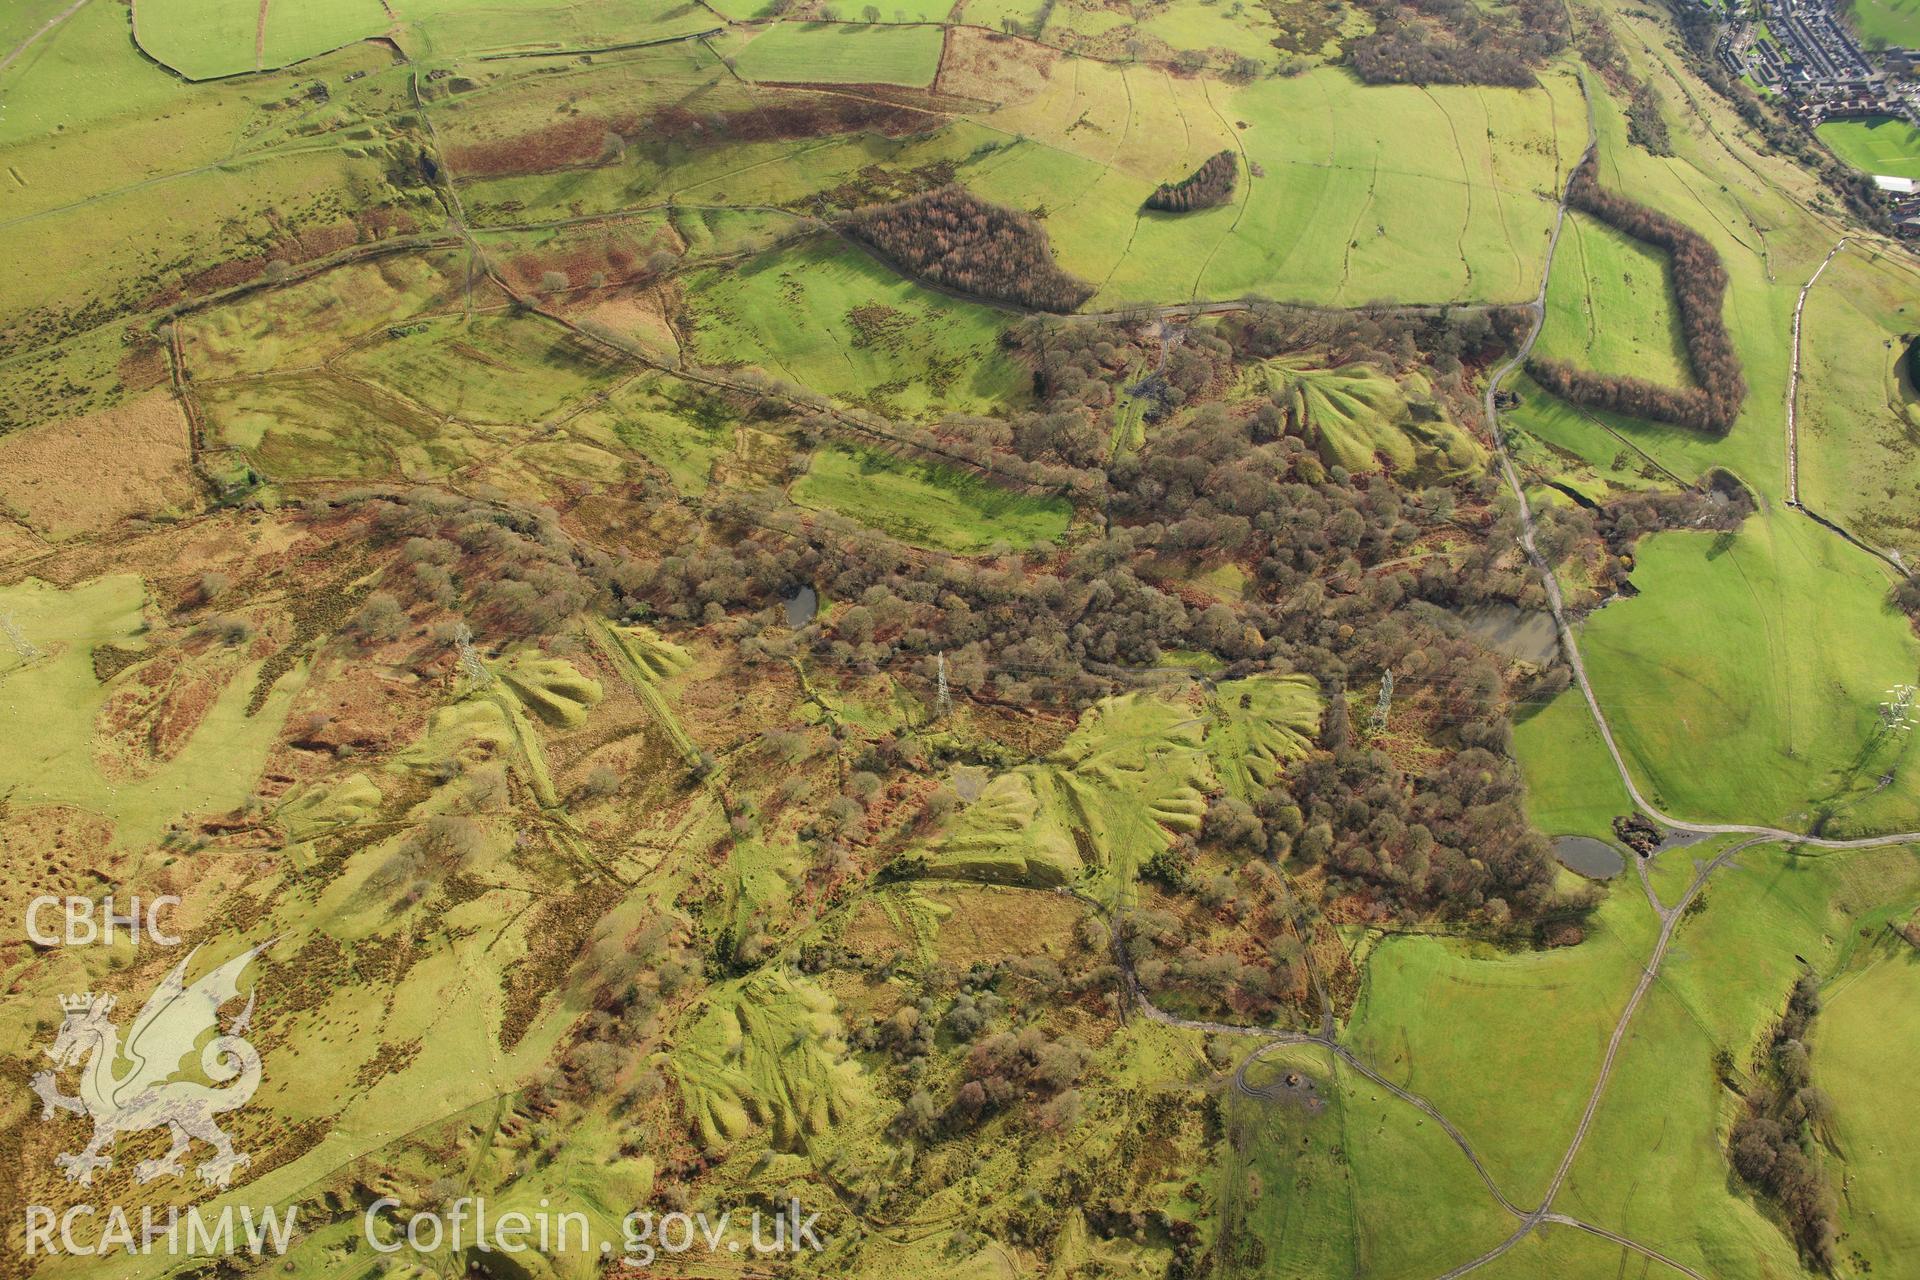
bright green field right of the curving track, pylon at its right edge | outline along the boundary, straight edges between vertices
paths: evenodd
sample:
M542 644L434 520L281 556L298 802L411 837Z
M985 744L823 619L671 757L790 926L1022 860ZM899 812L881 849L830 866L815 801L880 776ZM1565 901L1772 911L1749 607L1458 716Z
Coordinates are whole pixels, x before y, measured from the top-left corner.
M1776 509L1736 533L1642 541L1634 581L1580 649L1649 800L1830 835L1916 825L1920 754L1878 706L1912 681L1920 643L1876 560Z

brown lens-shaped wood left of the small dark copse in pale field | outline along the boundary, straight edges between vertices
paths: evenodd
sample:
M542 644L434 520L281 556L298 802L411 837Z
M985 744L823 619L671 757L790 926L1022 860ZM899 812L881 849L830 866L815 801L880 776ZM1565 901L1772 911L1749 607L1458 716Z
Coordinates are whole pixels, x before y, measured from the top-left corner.
M847 230L933 284L1031 311L1073 311L1092 286L1054 265L1033 217L958 184L847 217Z

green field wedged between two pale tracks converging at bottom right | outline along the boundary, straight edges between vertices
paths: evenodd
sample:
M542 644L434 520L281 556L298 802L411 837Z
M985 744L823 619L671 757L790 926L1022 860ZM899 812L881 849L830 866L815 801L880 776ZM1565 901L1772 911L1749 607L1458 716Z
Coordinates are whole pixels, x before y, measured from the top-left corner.
M1501 952L1382 936L1367 956L1346 1040L1452 1119L1509 1199L1538 1203L1655 933L1628 871L1611 881L1578 946ZM1536 1034L1546 1025L1553 1034Z

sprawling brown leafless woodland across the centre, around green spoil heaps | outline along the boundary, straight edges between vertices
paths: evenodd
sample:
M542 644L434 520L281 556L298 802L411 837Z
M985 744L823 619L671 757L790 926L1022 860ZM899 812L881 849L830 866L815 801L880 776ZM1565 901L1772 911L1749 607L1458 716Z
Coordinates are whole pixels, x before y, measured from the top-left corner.
M732 403L758 422L785 422L803 445L885 430L908 453L977 466L995 484L1066 493L1098 512L1100 528L1062 551L914 551L837 516L793 520L770 489L716 491L703 507L703 535L657 558L607 555L566 533L553 512L518 512L486 495L344 495L317 501L309 518L359 522L386 557L351 633L372 645L424 626L422 662L444 658L455 618L470 618L495 645L553 635L589 610L668 631L710 629L749 668L803 656L931 689L945 654L954 697L1023 714L1071 716L1164 679L1158 664L1175 649L1213 654L1227 677L1304 672L1327 695L1311 756L1256 804L1215 802L1198 844L1181 837L1148 877L1181 910L1229 912L1258 936L1292 936L1284 896L1260 871L1284 865L1317 869L1325 900L1338 904L1329 910L1342 917L1438 915L1571 942L1588 904L1555 889L1548 842L1528 829L1507 723L1515 697L1553 693L1565 674L1515 670L1457 620L1480 603L1542 604L1498 484L1475 476L1415 489L1382 472L1354 476L1325 464L1281 405L1229 397L1250 361L1311 351L1331 367L1367 359L1396 376L1419 368L1459 420L1473 420L1478 370L1524 326L1515 309L1258 307L1190 328L1160 351L1162 338L1144 324L1035 319L1008 344L1031 365L1037 401L1002 418L954 415L914 430L824 413L795 418L791 405L747 391ZM1150 393L1162 426L1137 453L1116 455L1114 401L1148 393L1129 388L1127 370L1150 363L1160 367ZM676 501L664 480L647 484L636 501ZM1645 532L1730 510L1703 503L1642 497L1620 510L1551 512L1540 545L1553 558L1601 541L1624 555ZM1244 593L1213 599L1192 589L1194 574L1229 564L1246 576ZM778 603L799 583L843 604L791 631L780 626ZM1365 699L1386 670L1419 706L1421 752L1384 750L1348 712L1348 693ZM918 771L941 750L899 739L866 752L860 770ZM906 852L918 829L868 829L860 804L841 808L845 825L822 844L833 865L847 865L854 846L868 846L870 860ZM1227 858L1236 867L1225 883L1200 869L1206 850L1210 865ZM1142 933L1139 946L1142 971L1194 1007L1271 1011L1306 994L1292 944L1277 942L1258 960L1215 956L1160 929ZM993 1077L1014 1079L987 1071L987 1105L1000 1090ZM916 1123L950 1130L981 1113L973 1094L933 1102Z

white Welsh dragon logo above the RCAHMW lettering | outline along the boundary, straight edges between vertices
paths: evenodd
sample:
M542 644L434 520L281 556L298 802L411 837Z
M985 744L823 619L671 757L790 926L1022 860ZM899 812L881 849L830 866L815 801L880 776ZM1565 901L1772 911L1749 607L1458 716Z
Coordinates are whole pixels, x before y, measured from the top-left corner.
M125 1044L109 1017L113 996L88 992L60 998L67 1017L54 1046L46 1050L54 1071L35 1075L33 1092L40 1096L40 1119L73 1111L94 1123L94 1138L86 1150L54 1157L69 1182L90 1186L96 1169L113 1167L108 1150L115 1134L161 1126L171 1132L173 1146L159 1159L144 1159L134 1167L140 1182L184 1173L180 1157L194 1138L213 1148L213 1157L196 1171L213 1186L225 1188L234 1171L253 1161L246 1151L234 1151L232 1140L213 1117L244 1107L259 1088L259 1052L240 1034L253 1019L253 996L248 996L246 1007L225 1031L219 1011L223 1004L240 998L240 975L261 948L228 960L188 986L186 965L198 952L198 946L188 952L146 998L127 1029ZM219 1034L200 1050L200 1069L215 1086L175 1079L180 1059L209 1031ZM75 1065L81 1067L81 1084L79 1094L69 1098L60 1092L56 1073Z

